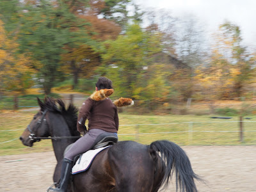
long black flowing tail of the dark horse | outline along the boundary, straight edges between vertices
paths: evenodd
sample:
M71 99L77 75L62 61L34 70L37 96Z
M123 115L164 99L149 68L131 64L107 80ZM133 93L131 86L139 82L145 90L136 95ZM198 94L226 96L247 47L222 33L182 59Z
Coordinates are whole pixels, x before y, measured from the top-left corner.
M197 192L195 179L202 179L193 172L188 156L179 145L162 140L154 141L149 148L156 164L155 179L158 181L154 182L154 188L160 188L163 184L167 186L175 172L177 191Z

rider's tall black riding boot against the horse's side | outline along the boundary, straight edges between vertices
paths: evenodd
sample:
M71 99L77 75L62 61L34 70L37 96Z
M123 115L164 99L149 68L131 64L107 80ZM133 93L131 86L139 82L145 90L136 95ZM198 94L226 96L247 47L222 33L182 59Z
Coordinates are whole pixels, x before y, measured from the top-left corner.
M68 188L68 182L72 170L72 164L73 161L70 161L68 159L63 159L62 165L61 165L61 177L60 177L60 182L58 184L57 188L49 188L47 189L47 192L51 191L59 191L59 192L65 192L67 191Z

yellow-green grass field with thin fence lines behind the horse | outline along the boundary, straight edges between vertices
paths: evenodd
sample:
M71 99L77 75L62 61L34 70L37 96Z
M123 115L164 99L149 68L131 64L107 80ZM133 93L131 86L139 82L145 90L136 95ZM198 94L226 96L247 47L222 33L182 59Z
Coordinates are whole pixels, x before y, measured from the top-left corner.
M50 140L25 147L19 136L36 111L2 111L0 113L0 154L22 154L52 150ZM119 140L149 144L170 140L179 145L256 145L256 122L244 122L244 142L239 141L238 117L230 120L195 115L124 115L120 113ZM161 124L161 125L156 125Z

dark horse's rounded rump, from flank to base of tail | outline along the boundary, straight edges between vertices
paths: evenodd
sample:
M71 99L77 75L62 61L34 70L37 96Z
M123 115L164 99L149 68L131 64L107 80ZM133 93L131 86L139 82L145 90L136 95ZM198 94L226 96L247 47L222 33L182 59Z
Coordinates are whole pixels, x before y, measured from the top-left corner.
M154 161L145 145L123 141L109 149L116 191L152 191Z

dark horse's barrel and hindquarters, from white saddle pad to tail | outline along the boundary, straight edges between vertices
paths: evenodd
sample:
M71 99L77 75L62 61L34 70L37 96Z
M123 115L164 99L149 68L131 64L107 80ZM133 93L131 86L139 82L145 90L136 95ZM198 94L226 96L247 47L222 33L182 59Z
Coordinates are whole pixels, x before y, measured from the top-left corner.
M145 145L122 141L100 152L90 168L74 175L75 191L151 192L154 161Z

